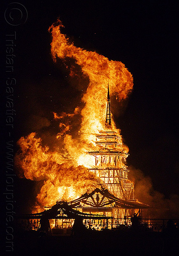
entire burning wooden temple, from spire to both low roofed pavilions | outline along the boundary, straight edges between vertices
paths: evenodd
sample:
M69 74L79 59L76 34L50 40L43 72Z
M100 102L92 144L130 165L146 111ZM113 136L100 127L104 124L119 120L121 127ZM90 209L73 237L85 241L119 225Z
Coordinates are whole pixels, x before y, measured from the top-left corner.
M86 193L70 202L57 202L56 205L43 212L20 218L27 219L31 225L34 225L34 229L39 225L42 228L40 221L45 219L43 225L50 223L49 230L69 230L76 219L81 219L87 228L101 230L118 228L119 225L131 225L131 218L134 214L138 214L141 219L146 218L148 205L139 202L134 197L134 184L128 178L129 170L125 165L129 154L123 147L120 134L112 131L111 122L108 85L107 129L96 134L96 150L86 153L93 161L89 172L95 173L103 181L104 188L96 188L92 193Z

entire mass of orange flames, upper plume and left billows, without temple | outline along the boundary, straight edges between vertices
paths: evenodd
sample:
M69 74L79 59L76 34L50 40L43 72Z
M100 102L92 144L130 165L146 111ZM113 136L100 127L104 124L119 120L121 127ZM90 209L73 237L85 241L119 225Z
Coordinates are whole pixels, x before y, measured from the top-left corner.
M107 84L110 93L119 101L125 99L133 89L132 74L120 61L109 60L96 52L86 51L70 44L61 33L60 20L57 26L49 28L52 33L52 56L54 61L60 58L67 69L67 59L75 60L83 75L89 78L89 85L82 97L84 107L76 106L73 113L54 113L59 121L59 133L56 136L58 146L50 151L42 146L35 133L21 137L15 163L19 176L30 180L43 180L44 184L37 195L40 206L52 206L57 200L70 201L84 193L90 193L96 187L104 186L88 167L92 167L92 158L86 152L95 150L95 135L99 131L120 131L114 121L111 126L105 123ZM73 61L74 62L74 61ZM75 65L71 65L69 76L78 76ZM73 121L79 122L78 133L72 134ZM124 146L126 150L126 146ZM40 208L39 208L40 210Z

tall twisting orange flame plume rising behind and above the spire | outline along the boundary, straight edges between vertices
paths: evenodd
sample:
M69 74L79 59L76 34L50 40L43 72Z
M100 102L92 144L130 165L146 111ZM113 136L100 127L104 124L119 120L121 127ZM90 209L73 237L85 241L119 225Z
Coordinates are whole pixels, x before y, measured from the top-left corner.
M81 67L84 76L89 77L89 86L82 98L85 107L81 111L83 117L81 131L86 137L86 133L96 133L97 130L106 129L104 127L106 111L104 102L106 102L108 81L110 81L111 95L115 95L120 101L125 99L132 91L133 77L122 62L109 60L96 52L86 51L70 44L69 39L60 31L62 27L64 26L58 20L58 26L53 24L49 28L53 37L51 44L52 56L54 61L57 57L62 59L66 68L68 68L67 58L74 59L76 65ZM72 66L70 70L74 68ZM69 75L74 76L76 73L73 70L73 72L70 71ZM113 131L116 129L114 122L112 129Z

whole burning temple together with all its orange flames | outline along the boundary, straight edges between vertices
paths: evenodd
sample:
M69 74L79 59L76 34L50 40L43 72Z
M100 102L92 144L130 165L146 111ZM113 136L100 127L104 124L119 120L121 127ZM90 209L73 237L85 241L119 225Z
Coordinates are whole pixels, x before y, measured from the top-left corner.
M134 213L146 218L149 206L135 199L134 184L125 165L129 148L123 144L114 123L110 91L119 101L125 99L133 88L132 75L121 62L70 44L61 27L58 21L57 26L49 28L53 36L52 55L54 61L61 58L67 69L68 59L75 59L71 77L75 76L75 65L89 77L82 98L85 106L77 106L72 114L54 113L60 122L56 151L43 147L35 133L19 139L20 150L15 158L19 176L44 180L34 210L39 213L19 218L30 219L34 229L47 231L52 227L72 227L74 219L83 219L85 226L98 230L131 225ZM79 131L73 131L73 119L81 120ZM43 211L47 205L52 208ZM36 221L33 224L31 220Z

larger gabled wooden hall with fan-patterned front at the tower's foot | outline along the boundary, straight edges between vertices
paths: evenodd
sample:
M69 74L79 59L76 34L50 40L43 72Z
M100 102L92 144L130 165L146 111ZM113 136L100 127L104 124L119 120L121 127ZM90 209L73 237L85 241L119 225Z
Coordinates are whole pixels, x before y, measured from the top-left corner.
M140 218L146 217L148 205L137 200L123 200L115 197L108 189L96 188L92 193L85 194L79 199L68 202L72 208L90 215L103 215L110 217L108 225L106 220L102 226L92 225L99 229L108 226L109 229L118 228L119 225L131 225L131 217L138 212Z

